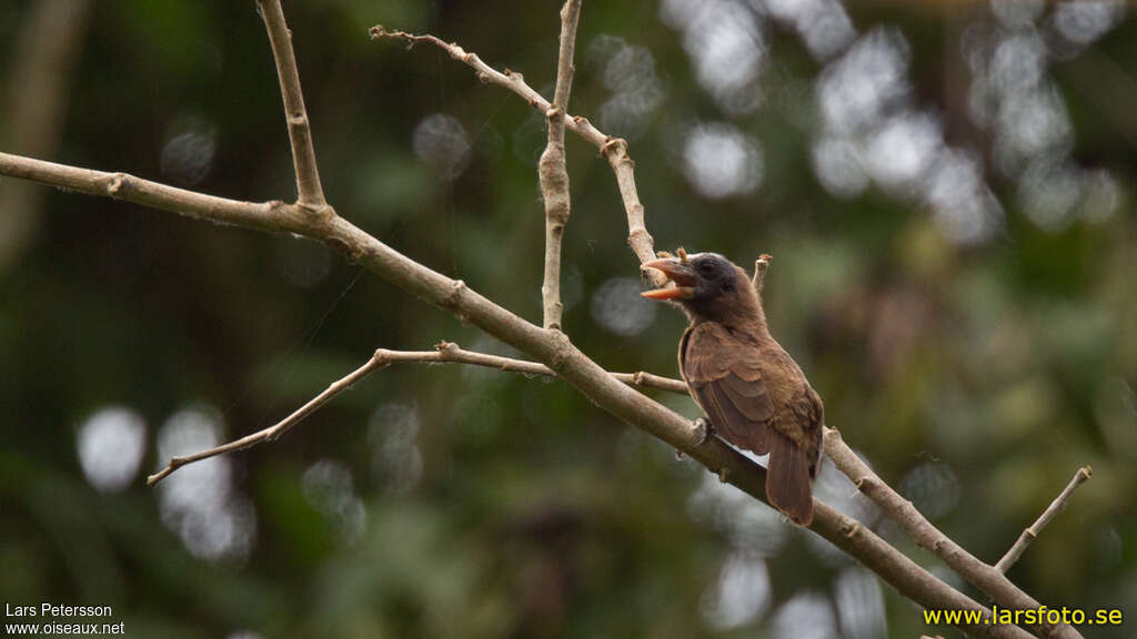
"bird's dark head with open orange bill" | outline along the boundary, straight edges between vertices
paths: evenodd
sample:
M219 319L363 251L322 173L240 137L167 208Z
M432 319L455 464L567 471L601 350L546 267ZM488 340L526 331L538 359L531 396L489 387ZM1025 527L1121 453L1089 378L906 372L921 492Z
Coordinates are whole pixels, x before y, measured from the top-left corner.
M644 291L649 299L679 302L692 321L724 324L764 321L757 293L746 272L716 252L665 257L642 268L663 273L674 287Z

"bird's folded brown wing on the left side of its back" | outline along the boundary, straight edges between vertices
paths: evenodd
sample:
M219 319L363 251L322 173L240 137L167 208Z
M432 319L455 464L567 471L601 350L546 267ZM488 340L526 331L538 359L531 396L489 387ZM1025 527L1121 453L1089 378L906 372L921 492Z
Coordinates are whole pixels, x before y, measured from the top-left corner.
M720 437L758 455L770 453L774 406L762 380L761 352L717 324L704 322L683 333L679 370L691 397Z

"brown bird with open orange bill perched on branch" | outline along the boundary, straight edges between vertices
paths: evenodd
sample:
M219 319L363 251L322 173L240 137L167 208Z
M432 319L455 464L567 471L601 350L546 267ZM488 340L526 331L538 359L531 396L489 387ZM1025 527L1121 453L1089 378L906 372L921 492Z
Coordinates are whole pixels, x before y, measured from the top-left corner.
M824 407L797 363L770 335L746 272L714 252L648 262L673 282L646 298L679 302L691 324L679 341L679 371L714 432L770 454L766 497L794 523L813 521L810 480L821 462Z

